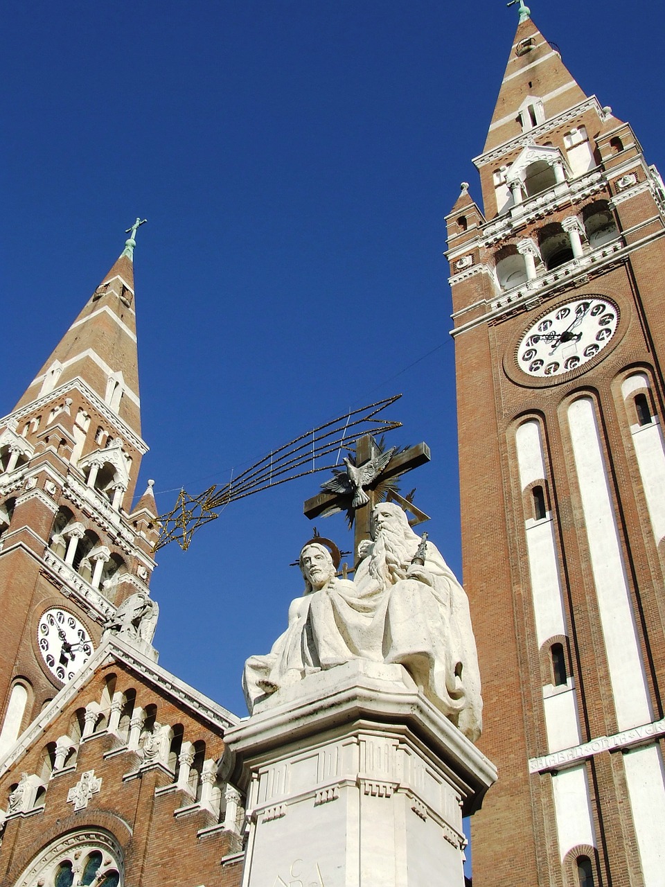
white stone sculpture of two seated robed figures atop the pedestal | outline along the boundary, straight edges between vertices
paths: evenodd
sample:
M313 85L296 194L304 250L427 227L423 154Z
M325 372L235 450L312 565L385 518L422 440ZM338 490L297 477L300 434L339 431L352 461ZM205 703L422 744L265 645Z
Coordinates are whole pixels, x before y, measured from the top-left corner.
M372 511L372 541L353 582L335 577L330 552L301 552L303 597L268 655L246 662L247 706L351 659L399 663L423 694L472 741L481 734L480 676L468 600L442 555L411 530L403 510Z

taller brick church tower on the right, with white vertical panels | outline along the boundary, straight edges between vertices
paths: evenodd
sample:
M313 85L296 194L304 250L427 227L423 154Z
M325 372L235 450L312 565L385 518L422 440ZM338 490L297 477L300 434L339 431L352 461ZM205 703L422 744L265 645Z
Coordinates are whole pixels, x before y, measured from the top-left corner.
M465 588L499 780L475 887L665 871L665 191L520 0L450 216Z

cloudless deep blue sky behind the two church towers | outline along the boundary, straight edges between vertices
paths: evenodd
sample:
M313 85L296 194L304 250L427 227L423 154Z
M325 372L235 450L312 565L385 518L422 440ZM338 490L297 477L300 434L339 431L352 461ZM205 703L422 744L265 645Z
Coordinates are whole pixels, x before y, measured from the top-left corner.
M662 4L533 0L589 94L665 167ZM443 216L481 153L517 24L500 0L13 4L2 36L9 412L137 215L139 487L223 483L270 449L403 392L390 443L460 571ZM651 35L654 35L653 38ZM663 170L665 171L665 170ZM479 459L482 453L479 452ZM245 713L240 672L286 626L312 475L160 552L160 663ZM488 503L491 507L491 503ZM497 520L501 520L497 514ZM318 530L348 548L340 516Z

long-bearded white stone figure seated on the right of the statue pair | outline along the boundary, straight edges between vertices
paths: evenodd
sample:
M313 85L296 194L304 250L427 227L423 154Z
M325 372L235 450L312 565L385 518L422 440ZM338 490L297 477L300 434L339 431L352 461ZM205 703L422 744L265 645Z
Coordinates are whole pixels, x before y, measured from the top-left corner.
M381 659L400 663L422 693L475 741L481 679L466 593L441 553L421 543L402 508L372 510L372 541L361 543L355 584L380 600Z

